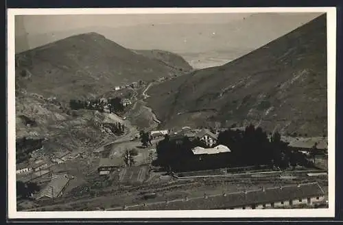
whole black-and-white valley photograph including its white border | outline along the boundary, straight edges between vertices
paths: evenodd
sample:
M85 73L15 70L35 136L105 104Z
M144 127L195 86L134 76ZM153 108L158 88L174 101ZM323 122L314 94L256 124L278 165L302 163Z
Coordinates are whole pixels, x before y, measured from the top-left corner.
M335 8L9 9L9 215L333 216L335 23Z

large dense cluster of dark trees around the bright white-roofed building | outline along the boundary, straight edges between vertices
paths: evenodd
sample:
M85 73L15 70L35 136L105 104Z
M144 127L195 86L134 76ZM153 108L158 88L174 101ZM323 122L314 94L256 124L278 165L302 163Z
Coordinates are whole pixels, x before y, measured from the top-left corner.
M259 165L280 169L296 165L311 166L303 153L292 150L287 142L281 140L280 133L274 133L269 139L265 131L260 127L255 129L253 125L244 131L228 129L221 132L217 144L228 146L231 152L195 157L191 149L196 146L206 148L206 144L199 139L189 140L187 137L170 140L166 135L156 146L158 158L154 164L174 171Z

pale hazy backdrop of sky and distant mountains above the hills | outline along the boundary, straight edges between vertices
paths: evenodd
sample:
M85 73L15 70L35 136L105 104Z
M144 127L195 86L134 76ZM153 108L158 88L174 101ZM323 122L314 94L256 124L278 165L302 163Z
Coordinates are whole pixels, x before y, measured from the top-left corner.
M16 53L95 31L128 49L180 54L197 68L261 47L319 13L110 14L16 16ZM198 62L202 62L200 65Z

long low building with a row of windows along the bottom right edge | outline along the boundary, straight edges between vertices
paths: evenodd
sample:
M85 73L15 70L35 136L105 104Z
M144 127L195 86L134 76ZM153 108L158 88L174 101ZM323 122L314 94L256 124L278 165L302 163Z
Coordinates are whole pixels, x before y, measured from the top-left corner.
M327 194L318 183L285 185L249 191L237 191L203 197L124 206L125 210L197 210L197 209L277 209L314 207L327 204Z

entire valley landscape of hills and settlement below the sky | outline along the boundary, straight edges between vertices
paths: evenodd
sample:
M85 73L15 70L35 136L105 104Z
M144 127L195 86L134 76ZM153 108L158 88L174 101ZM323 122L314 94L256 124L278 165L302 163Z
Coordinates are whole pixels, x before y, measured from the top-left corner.
M18 53L16 181L39 191L17 209L327 207L326 41L322 15L200 69L95 32Z

